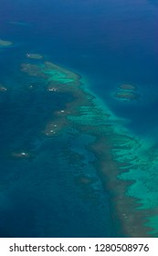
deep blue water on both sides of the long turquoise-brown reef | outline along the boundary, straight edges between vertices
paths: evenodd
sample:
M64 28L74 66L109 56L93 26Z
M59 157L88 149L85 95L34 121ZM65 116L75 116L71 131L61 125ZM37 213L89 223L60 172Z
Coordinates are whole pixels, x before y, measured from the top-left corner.
M0 84L7 88L0 91L0 236L117 236L111 193L102 186L91 165L95 156L86 148L93 138L72 131L51 140L41 133L51 113L64 108L71 95L47 93L45 82L26 76L20 65L28 61L26 53L39 53L79 73L85 86L122 120L122 130L138 136L142 151L157 152L158 2L0 0L0 6L0 38L14 43L0 47ZM135 85L139 101L114 99L121 83ZM30 84L33 91L27 90ZM36 157L10 156L18 150L36 152ZM68 156L71 150L77 155ZM151 169L154 186L151 180L148 191L144 189L149 201L154 190L155 202L157 171ZM81 185L76 176L94 182ZM129 173L126 179L139 181L142 176ZM128 193L135 197L139 187ZM153 226L155 208L156 203Z

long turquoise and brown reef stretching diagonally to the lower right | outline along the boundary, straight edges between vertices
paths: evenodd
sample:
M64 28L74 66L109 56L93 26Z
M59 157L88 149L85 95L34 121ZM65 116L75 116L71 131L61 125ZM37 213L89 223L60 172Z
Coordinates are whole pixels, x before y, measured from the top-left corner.
M47 81L48 93L71 95L65 108L52 112L46 128L41 131L48 138L73 129L94 139L87 150L94 155L91 161L105 189L111 195L111 215L115 225L122 227L121 236L158 237L157 200L158 152L153 144L143 144L123 127L109 109L98 103L95 95L81 83L80 76L52 62L40 65L22 64L28 76ZM135 87L122 85L123 99L130 99ZM124 93L124 94L123 94ZM118 97L119 98L119 97ZM72 155L67 149L67 158ZM69 154L71 153L71 154ZM74 152L74 157L77 154ZM77 158L74 158L77 159ZM69 159L69 161L71 161ZM79 176L76 183L88 186L89 176Z

